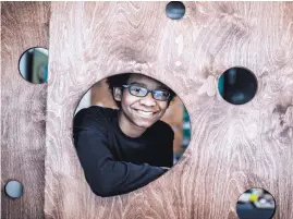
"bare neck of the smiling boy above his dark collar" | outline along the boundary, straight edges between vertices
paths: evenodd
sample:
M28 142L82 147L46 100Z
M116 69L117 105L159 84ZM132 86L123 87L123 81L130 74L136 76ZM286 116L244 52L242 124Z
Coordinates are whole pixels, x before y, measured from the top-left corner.
M121 111L118 113L118 124L120 130L130 137L139 137L146 131L146 127L133 124Z

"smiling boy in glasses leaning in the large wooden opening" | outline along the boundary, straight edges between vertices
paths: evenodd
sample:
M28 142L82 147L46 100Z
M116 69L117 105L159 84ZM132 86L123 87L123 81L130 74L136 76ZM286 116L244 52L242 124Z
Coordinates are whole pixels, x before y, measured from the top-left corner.
M91 106L74 118L74 144L91 191L107 197L154 181L173 165L174 133L160 121L175 94L143 74L108 78L119 110Z

